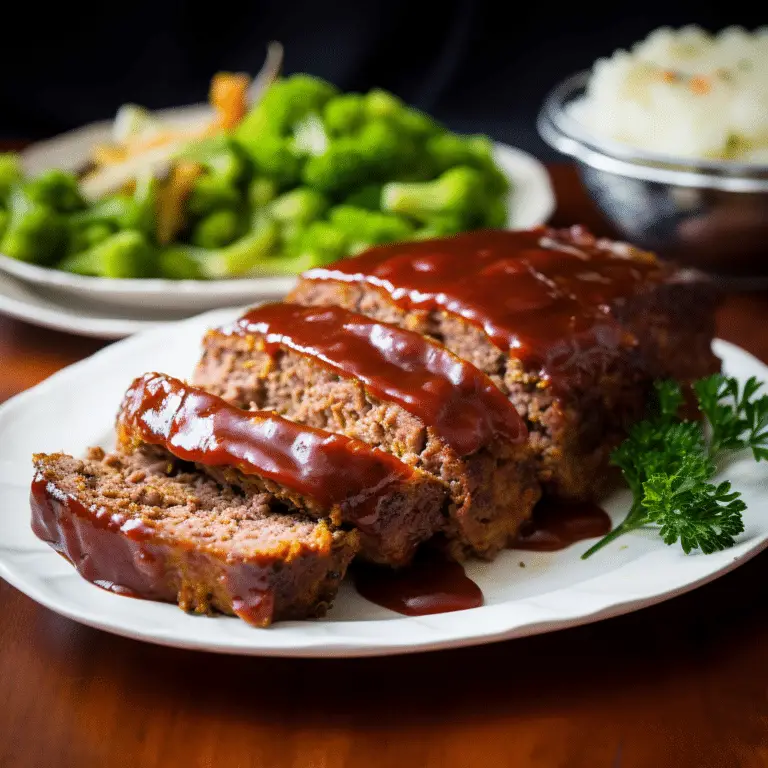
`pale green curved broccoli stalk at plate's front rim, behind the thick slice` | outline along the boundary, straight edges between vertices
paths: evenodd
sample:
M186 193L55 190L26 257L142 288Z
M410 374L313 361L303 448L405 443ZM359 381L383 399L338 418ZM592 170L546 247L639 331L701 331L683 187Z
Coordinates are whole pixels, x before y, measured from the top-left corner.
M279 227L264 220L253 231L224 248L171 246L160 253L160 271L172 279L217 280L245 277L269 259L279 243Z

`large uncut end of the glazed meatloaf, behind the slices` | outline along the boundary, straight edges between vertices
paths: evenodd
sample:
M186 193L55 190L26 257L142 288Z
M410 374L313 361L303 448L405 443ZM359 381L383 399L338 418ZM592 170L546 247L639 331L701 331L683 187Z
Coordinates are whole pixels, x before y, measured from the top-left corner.
M711 288L579 228L382 246L310 270L288 300L400 325L472 362L525 419L545 492L570 500L604 489L654 378L719 368Z

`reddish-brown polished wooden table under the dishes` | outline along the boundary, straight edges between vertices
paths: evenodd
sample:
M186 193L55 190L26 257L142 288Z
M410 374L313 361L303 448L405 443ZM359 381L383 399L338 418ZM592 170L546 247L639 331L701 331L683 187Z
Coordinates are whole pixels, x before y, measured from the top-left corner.
M552 175L555 223L608 232L573 170ZM768 295L719 319L768 361ZM100 346L0 320L0 398ZM0 767L768 766L767 565L578 629L349 661L125 640L0 582Z

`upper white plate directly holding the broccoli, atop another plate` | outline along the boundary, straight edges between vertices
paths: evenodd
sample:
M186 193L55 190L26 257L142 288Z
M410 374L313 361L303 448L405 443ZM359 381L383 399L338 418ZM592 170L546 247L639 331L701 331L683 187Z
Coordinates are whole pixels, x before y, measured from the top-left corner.
M160 113L161 118L171 123L199 122L204 116L204 107L184 107ZM110 128L110 123L97 123L34 144L23 152L25 169L32 175L46 168L77 170L84 165L95 143L109 139ZM521 229L546 222L554 211L555 198L545 168L526 152L504 144L495 145L495 156L512 183L508 199L509 228ZM145 320L148 311L189 316L207 309L279 298L290 290L294 282L293 277L210 281L110 280L39 267L2 254L0 272L38 291L45 291L48 300L60 305L66 306L71 300L76 300L81 305L92 306L100 315L125 315L128 312L134 321ZM30 315L34 322L34 313ZM62 330L70 328L63 327Z

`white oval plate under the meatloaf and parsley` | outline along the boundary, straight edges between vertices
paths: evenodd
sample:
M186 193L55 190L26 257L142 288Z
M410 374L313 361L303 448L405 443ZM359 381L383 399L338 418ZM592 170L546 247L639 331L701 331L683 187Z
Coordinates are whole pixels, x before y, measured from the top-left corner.
M482 608L468 611L406 618L367 602L344 584L327 618L264 630L234 618L188 616L173 605L105 592L32 534L30 456L110 447L115 408L132 378L147 370L188 375L202 333L233 314L212 313L134 336L0 408L0 576L64 616L141 640L222 653L365 656L486 643L616 616L710 581L768 543L768 466L744 458L725 472L749 507L746 531L734 548L686 556L655 533L638 532L586 562L579 559L585 543L547 554L507 551L493 563L468 564L469 576L486 598ZM716 351L729 373L768 379L768 368L738 347L718 342ZM608 501L614 521L628 502L625 493Z

